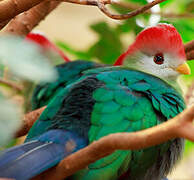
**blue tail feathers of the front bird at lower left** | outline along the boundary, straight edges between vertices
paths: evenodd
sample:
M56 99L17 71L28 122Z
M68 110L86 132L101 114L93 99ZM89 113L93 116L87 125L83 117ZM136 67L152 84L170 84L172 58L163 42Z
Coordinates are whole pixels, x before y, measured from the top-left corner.
M60 137L60 139L59 139ZM73 140L76 147L67 149L66 143ZM55 166L64 157L84 147L86 141L74 133L50 130L36 141L7 150L0 156L0 177L27 180ZM31 149L29 149L31 147ZM26 151L24 151L24 149ZM16 154L14 154L14 150ZM23 152L23 153L22 153ZM6 158L11 154L11 158ZM15 157L15 158L14 158Z

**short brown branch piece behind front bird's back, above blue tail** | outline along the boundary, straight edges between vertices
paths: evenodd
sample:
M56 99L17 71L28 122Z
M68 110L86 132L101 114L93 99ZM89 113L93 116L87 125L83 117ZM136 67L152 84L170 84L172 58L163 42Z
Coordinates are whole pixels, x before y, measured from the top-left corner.
M45 108L46 106L26 114L23 118L22 127L16 132L15 137L26 135Z

